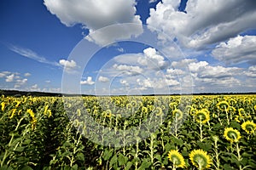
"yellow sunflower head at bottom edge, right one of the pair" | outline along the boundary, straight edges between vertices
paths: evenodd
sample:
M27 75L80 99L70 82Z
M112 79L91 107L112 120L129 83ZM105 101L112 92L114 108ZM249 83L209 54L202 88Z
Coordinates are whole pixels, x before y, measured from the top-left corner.
M195 167L199 169L207 169L211 167L212 160L207 155L207 151L204 150L193 150L189 154L189 159Z

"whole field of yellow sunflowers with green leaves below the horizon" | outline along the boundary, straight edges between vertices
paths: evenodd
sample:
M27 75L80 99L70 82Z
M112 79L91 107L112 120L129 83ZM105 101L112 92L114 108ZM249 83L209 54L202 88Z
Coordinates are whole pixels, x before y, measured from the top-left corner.
M0 97L0 169L256 169L256 96Z

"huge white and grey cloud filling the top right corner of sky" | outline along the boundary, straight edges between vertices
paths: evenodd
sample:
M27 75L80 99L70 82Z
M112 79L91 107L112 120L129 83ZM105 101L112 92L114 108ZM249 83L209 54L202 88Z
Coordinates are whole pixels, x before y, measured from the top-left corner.
M202 48L256 28L254 0L189 0L187 13L178 11L179 1L162 2L150 9L148 26L177 37L185 47Z

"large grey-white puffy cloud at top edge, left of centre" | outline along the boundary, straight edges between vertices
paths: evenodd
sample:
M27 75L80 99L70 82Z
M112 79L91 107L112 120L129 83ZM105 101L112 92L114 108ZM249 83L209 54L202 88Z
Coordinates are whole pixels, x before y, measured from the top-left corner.
M136 14L134 0L44 0L51 14L55 14L66 26L82 24L89 29L90 41L105 45L113 40L138 35L143 31L142 21ZM134 26L116 26L113 24L133 23ZM106 29L96 31L105 27Z

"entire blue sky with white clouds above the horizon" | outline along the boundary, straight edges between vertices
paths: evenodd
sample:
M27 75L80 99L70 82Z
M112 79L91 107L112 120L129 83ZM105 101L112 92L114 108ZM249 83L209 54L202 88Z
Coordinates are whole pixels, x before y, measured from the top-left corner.
M1 3L0 89L255 92L253 0Z

